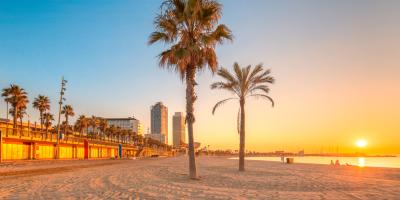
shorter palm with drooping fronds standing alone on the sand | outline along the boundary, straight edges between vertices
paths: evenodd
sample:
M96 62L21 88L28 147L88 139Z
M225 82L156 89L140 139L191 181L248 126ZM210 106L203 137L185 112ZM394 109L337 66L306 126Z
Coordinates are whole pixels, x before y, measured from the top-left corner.
M268 96L268 84L274 83L274 78L270 76L270 70L264 70L263 65L259 64L252 70L251 66L241 68L239 64L233 64L234 74L230 73L227 69L221 68L218 70L218 75L222 77L225 82L216 82L211 85L211 89L222 89L233 93L236 97L224 99L215 104L212 113L229 100L238 100L240 110L238 113L237 128L240 134L240 147L239 147L239 171L244 171L244 154L245 154L245 104L246 98L257 97L265 98L271 101L274 106L274 101ZM239 122L240 116L240 122Z

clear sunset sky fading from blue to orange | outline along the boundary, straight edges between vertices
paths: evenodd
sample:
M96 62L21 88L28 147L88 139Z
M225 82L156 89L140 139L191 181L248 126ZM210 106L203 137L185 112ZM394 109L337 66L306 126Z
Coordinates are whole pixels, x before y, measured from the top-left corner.
M219 66L263 63L276 83L270 96L246 105L251 151L400 153L400 1L221 1L220 23L234 41L217 47ZM158 67L168 46L148 46L160 0L2 0L0 88L14 83L32 102L51 98L57 113L61 77L76 115L129 117L150 127L150 106L185 111L179 75ZM197 76L195 140L211 149L238 149L238 103L211 114L229 93L220 80ZM28 109L31 121L38 112ZM0 101L0 117L6 106ZM27 120L27 118L25 119ZM357 139L368 146L357 149Z

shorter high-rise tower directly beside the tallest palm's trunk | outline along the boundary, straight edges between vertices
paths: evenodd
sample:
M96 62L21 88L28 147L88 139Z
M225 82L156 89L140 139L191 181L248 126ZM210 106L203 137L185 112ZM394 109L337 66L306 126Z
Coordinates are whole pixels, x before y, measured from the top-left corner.
M172 118L172 138L174 147L180 147L185 143L185 114L176 112Z

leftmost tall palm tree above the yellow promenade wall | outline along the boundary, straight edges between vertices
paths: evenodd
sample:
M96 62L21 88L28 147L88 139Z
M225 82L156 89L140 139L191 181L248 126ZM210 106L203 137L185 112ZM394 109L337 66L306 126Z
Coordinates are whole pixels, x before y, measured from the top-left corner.
M21 108L26 108L29 103L28 94L18 85L11 84L10 87L3 89L1 96L12 107L13 128L16 129L18 112Z

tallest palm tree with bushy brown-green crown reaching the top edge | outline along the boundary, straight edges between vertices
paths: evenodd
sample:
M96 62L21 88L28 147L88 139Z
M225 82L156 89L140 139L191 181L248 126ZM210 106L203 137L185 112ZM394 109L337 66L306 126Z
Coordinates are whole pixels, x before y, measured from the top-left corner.
M159 65L178 72L186 82L189 174L192 179L197 179L193 141L196 72L207 66L215 72L218 66L215 46L225 39L232 40L228 27L218 25L221 10L221 4L216 0L164 0L154 21L156 30L149 38L149 44L169 45L159 54Z

